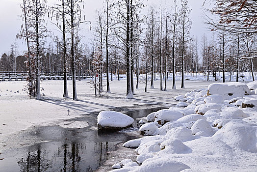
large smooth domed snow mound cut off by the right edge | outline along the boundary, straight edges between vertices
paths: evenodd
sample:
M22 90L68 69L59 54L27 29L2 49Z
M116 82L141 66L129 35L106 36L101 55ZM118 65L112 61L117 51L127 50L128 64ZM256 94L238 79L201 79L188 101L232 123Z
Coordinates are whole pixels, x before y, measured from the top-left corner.
M257 127L240 119L226 123L212 137L220 139L232 148L257 153Z

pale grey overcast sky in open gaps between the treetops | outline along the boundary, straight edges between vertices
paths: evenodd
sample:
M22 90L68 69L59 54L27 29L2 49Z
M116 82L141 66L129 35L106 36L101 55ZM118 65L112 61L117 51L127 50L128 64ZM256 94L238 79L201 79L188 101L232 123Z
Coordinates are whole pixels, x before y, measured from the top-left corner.
M55 0L48 0L50 3ZM160 0L144 0L145 3L159 5ZM167 0L167 3L171 0ZM204 33L208 34L206 26L203 24L202 5L204 0L188 0L192 8L190 19L193 21L191 35L194 35L201 40ZM20 3L22 0L0 0L0 56L3 53L8 53L12 43L17 42L19 45L18 51L22 53L26 50L24 41L16 41L16 34L21 28L22 21L19 15L22 11ZM103 0L84 0L86 20L94 23L95 11L103 6ZM165 0L162 0L165 3ZM169 6L168 8L169 9ZM87 41L87 40L86 40ZM89 40L88 40L89 41Z

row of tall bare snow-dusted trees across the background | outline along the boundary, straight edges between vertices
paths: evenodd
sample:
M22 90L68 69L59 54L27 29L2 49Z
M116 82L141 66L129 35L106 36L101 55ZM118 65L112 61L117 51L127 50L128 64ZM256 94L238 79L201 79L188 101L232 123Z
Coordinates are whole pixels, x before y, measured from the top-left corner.
M226 3L229 1L226 0ZM247 5L239 1L235 4ZM111 92L109 72L116 73L119 80L123 70L122 73L127 75L127 98L133 98L134 88L138 89L140 73L146 74L145 91L147 91L148 73L151 76L151 88L154 88L156 73L159 74L160 90L168 89L167 79L171 73L172 88L176 89L176 72L180 72L182 77L181 88L184 87L184 73L191 73L197 77L200 70L207 79L210 73L216 78L216 72L223 72L223 82L225 82L225 71L231 73L236 71L237 81L240 70L252 71L254 78L254 66L257 61L256 33L253 28L256 24L252 22L246 25L249 21L245 20L248 20L249 16L237 20L231 16L229 20L227 16L231 14L222 6L223 2L217 2L215 8L209 10L212 14L218 14L220 19L208 18L206 23L213 30L213 35L211 39L202 37L202 49L198 48L200 41L190 36L191 9L187 0L173 0L172 5L166 3L163 5L160 1L157 7L146 7L141 0L104 0L103 8L97 11L93 27L94 39L90 44L82 43L81 29L91 30L91 22L83 17L84 4L81 0L56 0L56 4L51 7L47 6L47 0L23 0L23 2L21 8L24 25L18 37L24 38L27 43L24 57L27 58L29 69L29 93L36 99L41 99L39 82L41 71L63 72L64 97L69 97L67 72L72 73L74 100L77 100L76 75L84 72L95 76L94 85L96 91L101 94L103 73L107 74L106 91L109 93ZM144 15L143 8L148 9ZM240 10L245 11L244 7L242 9L235 7L233 15L240 13ZM254 19L253 16L252 14ZM48 23L46 19L55 25L61 35L51 36L46 27ZM235 20L233 22L237 22L236 25L231 26L232 19ZM46 37L52 37L49 45L45 44ZM199 49L203 57L202 64L198 56ZM11 54L13 56L13 53ZM12 60L11 64L14 63L16 64ZM14 68L6 70L16 70ZM135 73L136 84L133 83ZM98 81L96 74L99 74Z

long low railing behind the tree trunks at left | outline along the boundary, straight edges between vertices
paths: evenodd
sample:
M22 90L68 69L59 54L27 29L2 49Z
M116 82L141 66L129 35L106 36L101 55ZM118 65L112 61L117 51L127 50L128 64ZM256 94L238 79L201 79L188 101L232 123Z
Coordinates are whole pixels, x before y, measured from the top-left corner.
M27 72L9 72L9 71L0 71L0 81L23 81L26 80L28 74ZM76 79L86 79L91 78L85 72L77 72ZM64 80L63 72L41 72L40 73L41 80ZM72 74L67 73L67 79L72 79Z

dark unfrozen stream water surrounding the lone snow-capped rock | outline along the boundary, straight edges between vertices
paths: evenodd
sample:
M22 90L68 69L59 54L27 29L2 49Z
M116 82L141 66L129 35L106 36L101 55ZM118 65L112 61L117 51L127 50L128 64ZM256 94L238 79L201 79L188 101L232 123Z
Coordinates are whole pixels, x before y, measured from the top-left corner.
M122 111L134 119L163 109ZM21 139L34 138L40 143L25 148L15 148L0 155L0 172L90 172L103 164L109 151L117 149L116 144L137 138L130 131L138 130L135 120L131 128L117 132L98 131L98 113L85 115L76 121L89 124L85 128L63 128L59 126L35 127L26 131ZM73 119L74 120L74 119ZM69 120L67 120L69 121ZM126 157L125 157L126 158Z

